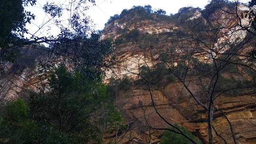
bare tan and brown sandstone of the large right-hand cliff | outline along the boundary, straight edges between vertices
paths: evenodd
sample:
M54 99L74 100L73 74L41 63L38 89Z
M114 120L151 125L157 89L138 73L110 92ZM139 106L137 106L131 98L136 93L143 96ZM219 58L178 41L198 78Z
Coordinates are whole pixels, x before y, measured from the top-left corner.
M239 6L241 10L243 6ZM199 11L195 11L194 14L188 19L198 19L206 22L207 20L202 18L202 14ZM227 15L219 13L220 17L227 17ZM213 17L213 16L212 16ZM123 77L128 75L129 78L138 79L139 67L141 65L147 65L151 67L157 63L157 58L160 51L166 51L172 44L172 36L165 35L166 33L172 33L175 29L183 29L184 27L178 26L174 22L159 22L156 20L141 20L140 22L132 21L123 22L123 20L117 19L106 26L102 38L117 39L121 36L119 29L127 27L127 31L137 28L143 34L157 34L159 42L154 45L154 48L150 49L150 45L145 46L144 49L140 48L140 45L144 45L144 40L138 42L127 42L121 44L117 48L117 60L118 65L114 66L111 71L107 72L107 79L111 77ZM233 25L232 20L222 21L225 25ZM246 21L244 21L246 23ZM128 25L129 24L129 25ZM238 38L244 39L246 32L238 30L236 28L223 31L227 33L226 36L220 37L218 42L229 41L235 43ZM230 35L229 35L230 34ZM175 36L173 36L175 37ZM217 44L216 44L217 45ZM245 46L246 49L251 49L250 44ZM226 46L219 50L224 52L230 47ZM149 50L150 49L150 50ZM202 48L203 49L203 48ZM179 51L178 49L175 49ZM206 49L205 49L206 50ZM182 50L181 50L182 51ZM206 50L207 51L207 50ZM204 54L197 54L196 57L200 61L209 61ZM175 65L175 64L174 64ZM253 64L255 66L255 63ZM243 73L242 68L238 67L237 74L224 73L223 77L229 79L230 77L236 77L240 79L241 76L248 81L252 78L251 75ZM159 78L160 79L160 78ZM200 81L197 76L192 76L187 81L190 82L189 88L193 93L200 96L201 101L207 103L205 99L205 93L202 90ZM163 87L154 87L152 95L155 100L156 108L159 113L165 118L166 121L171 123L178 123L186 127L190 132L201 139L203 144L208 143L208 129L207 129L207 113L198 105L194 99L192 99L190 93L184 89L183 84L178 81L162 81L165 83ZM167 84L166 84L167 83ZM162 85L159 83L158 85ZM118 137L113 132L113 135L106 135L106 143L115 138L118 139L119 144L157 144L160 142L163 136L163 130L156 130L154 128L166 128L168 124L156 113L152 104L150 91L141 86L133 85L128 90L119 90L117 94L116 103L124 116L127 119L126 125L129 127L128 131L123 133L119 132ZM205 99L205 100L204 100ZM234 144L231 136L230 124L235 133L236 139L239 144L256 144L256 90L244 90L235 94L223 94L215 100L216 110L213 118L213 137L214 144ZM218 110L217 110L218 109ZM226 117L223 115L225 114ZM230 121L230 124L227 120Z

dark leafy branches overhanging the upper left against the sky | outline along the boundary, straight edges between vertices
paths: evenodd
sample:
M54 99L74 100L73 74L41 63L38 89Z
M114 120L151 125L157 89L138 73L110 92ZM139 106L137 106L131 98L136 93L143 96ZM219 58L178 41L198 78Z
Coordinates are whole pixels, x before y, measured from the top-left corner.
M81 54L84 57L89 57L91 64L96 65L96 62L101 62L100 58L102 58L102 53L106 54L106 46L105 43L101 43L99 41L100 36L89 36L89 32L91 28L89 27L89 23L91 22L88 17L81 17L82 14L84 16L83 9L88 9L88 3L85 4L86 0L78 0L73 3L73 9L64 8L62 4L55 4L54 2L46 3L42 9L45 10L46 14L50 14L53 19L54 17L63 16L63 10L70 12L70 18L68 21L68 26L66 27L62 24L61 21L55 20L55 24L60 28L60 33L57 36L52 36L49 33L49 36L37 37L36 35L31 34L31 38L24 38L24 34L27 33L26 25L27 23L31 23L32 19L35 19L35 15L30 11L24 10L28 5L35 6L36 0L0 0L0 71L4 69L1 67L2 63L5 61L15 62L17 60L17 56L19 55L19 49L16 47L22 47L24 45L31 46L32 43L42 43L42 41L46 42L49 45L49 49L54 50L55 55L62 55L71 58L74 55ZM90 3L95 4L95 0L89 0ZM38 27L39 28L39 27ZM39 28L38 30L40 30ZM97 32L94 32L97 33ZM93 38L92 38L93 37ZM96 41L96 38L97 41ZM62 47L64 49L59 50L60 45L68 47ZM84 46L86 45L86 46ZM90 45L90 46L89 46ZM71 50L74 46L75 53ZM56 48L58 47L58 48ZM81 48L82 47L82 48ZM96 47L96 48L95 48ZM88 48L88 49L87 49ZM89 50L89 48L91 48ZM104 50L102 50L102 49ZM82 53L81 50L86 49L86 54ZM79 52L78 52L79 50ZM90 51L90 55L88 54ZM97 52L102 52L101 54ZM81 55L77 56L80 58L78 60L81 62ZM97 56L99 59L92 58L92 56ZM85 60L82 59L82 60ZM88 59L87 59L88 60Z

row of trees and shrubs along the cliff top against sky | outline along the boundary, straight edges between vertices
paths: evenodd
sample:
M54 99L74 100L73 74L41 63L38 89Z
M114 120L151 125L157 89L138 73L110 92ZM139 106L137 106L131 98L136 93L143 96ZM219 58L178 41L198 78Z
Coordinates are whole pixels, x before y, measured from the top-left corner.
M178 10L176 14L166 15L165 10L163 9L152 9L150 5L142 6L133 6L132 9L124 9L120 15L116 14L111 16L105 26L118 20L118 23L127 22L128 19L137 20L156 20L156 21L165 21L169 23L175 23L177 26L185 25L185 23L190 18L202 13L202 17L208 19L215 11L219 8L226 7L227 9L234 9L236 7L235 2L229 0L219 0L218 3L215 3L214 0L211 1L204 9L193 8L193 7L183 7ZM199 13L197 13L199 12Z

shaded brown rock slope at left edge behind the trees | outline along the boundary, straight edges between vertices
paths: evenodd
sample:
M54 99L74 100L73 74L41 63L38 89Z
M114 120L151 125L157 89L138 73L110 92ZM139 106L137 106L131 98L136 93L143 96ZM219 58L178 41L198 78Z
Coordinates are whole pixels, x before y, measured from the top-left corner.
M0 78L0 103L16 99L26 90L39 90L44 70L38 67L40 60L46 60L42 50L22 48L15 63L4 63L5 73ZM42 78L42 79L41 79Z

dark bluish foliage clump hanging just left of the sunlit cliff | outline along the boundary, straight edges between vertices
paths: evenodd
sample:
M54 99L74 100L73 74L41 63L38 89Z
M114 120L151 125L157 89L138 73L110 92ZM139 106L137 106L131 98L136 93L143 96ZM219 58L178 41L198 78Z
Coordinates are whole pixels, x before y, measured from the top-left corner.
M75 63L75 70L88 76L88 79L96 79L102 74L102 65L106 64L104 59L113 48L111 38L101 40L100 37L101 32L93 33L91 37L61 38L51 48L55 49L55 55L62 55Z

